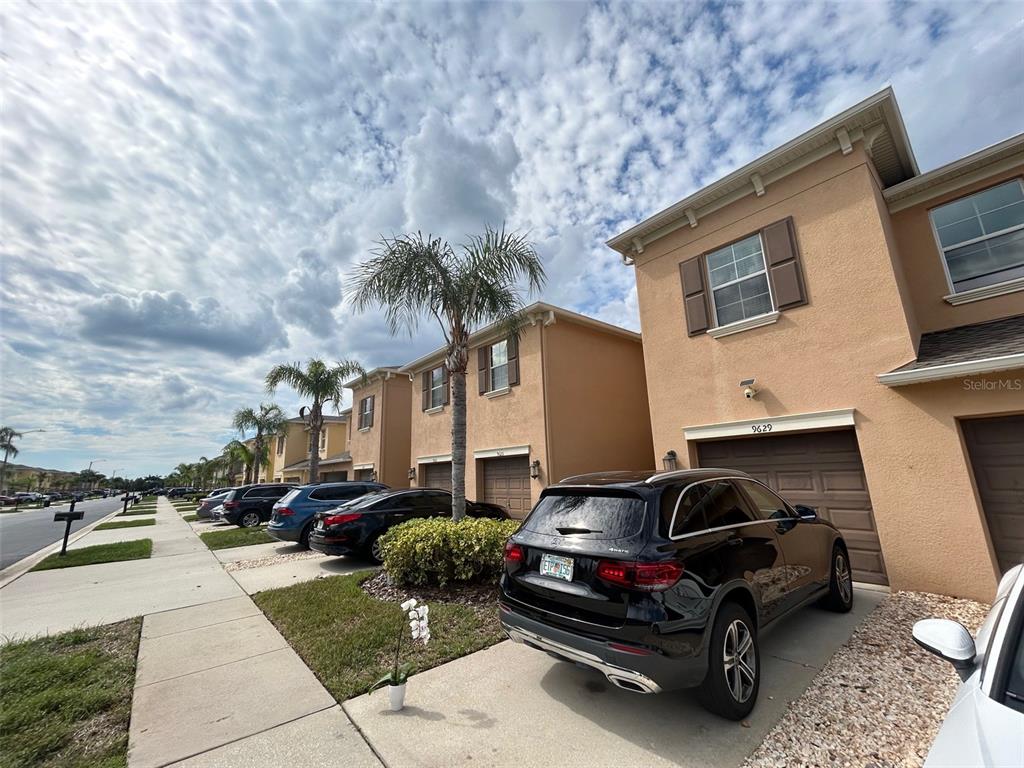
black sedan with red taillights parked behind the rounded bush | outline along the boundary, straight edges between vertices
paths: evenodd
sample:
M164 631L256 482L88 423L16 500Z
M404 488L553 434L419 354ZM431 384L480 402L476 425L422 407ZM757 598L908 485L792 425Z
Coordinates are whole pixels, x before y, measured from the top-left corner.
M309 548L328 555L366 555L381 562L380 538L392 525L452 514L452 494L437 488L368 494L327 512L317 512ZM466 501L467 517L507 520L504 507Z

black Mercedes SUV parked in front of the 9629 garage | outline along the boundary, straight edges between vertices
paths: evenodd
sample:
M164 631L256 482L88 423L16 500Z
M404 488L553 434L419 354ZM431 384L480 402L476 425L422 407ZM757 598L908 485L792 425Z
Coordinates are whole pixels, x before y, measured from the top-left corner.
M839 530L742 472L612 472L549 486L509 539L512 640L641 693L699 687L741 720L761 682L758 635L820 600L847 611Z

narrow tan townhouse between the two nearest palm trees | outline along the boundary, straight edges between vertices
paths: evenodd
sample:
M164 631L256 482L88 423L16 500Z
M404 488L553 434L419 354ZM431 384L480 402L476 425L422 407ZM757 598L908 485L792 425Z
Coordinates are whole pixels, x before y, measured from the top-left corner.
M353 480L409 487L409 425L413 388L397 368L376 368L345 383L352 390L348 453Z

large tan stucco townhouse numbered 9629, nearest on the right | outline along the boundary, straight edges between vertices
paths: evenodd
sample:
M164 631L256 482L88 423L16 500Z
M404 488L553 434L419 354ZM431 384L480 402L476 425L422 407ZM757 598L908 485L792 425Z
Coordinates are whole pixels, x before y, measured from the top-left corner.
M818 508L855 578L1024 560L1024 134L921 173L886 89L616 236L655 453Z

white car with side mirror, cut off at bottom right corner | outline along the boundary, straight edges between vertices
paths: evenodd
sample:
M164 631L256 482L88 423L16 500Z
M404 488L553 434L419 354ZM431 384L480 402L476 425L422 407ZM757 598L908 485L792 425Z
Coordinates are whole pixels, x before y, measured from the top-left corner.
M918 622L913 639L964 681L925 768L1024 765L1024 564L999 581L977 639L946 618Z

